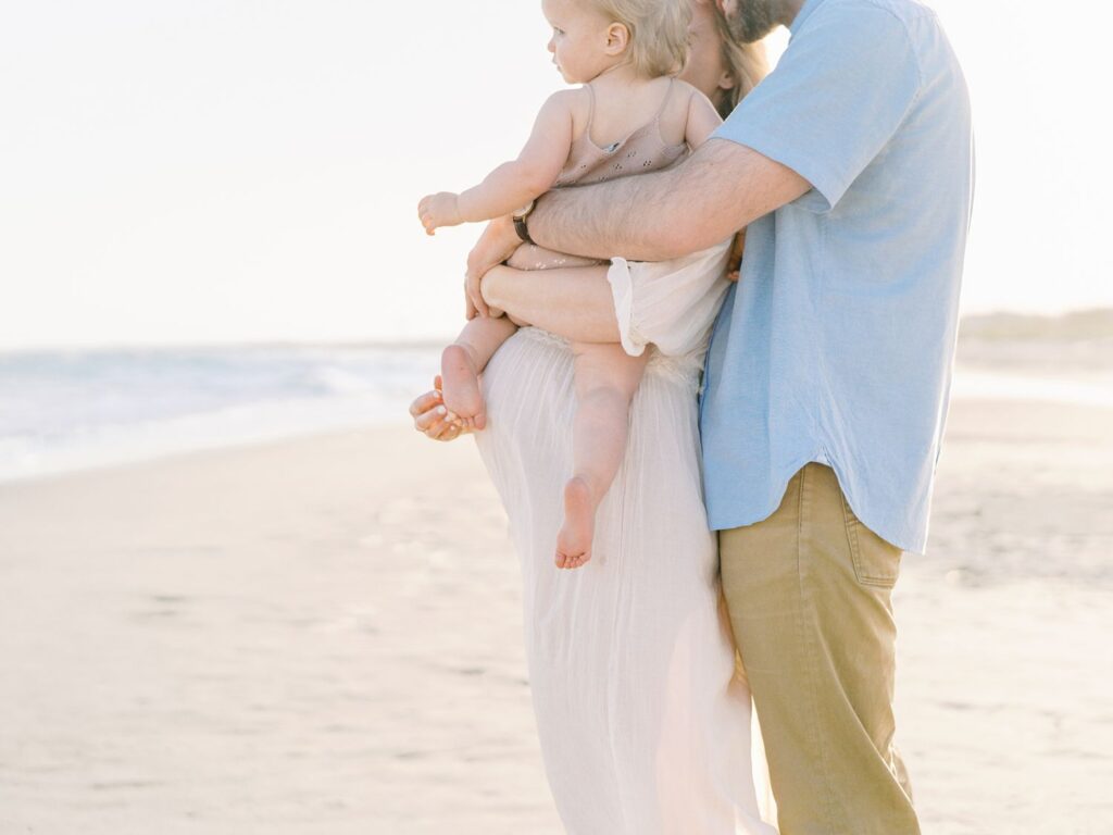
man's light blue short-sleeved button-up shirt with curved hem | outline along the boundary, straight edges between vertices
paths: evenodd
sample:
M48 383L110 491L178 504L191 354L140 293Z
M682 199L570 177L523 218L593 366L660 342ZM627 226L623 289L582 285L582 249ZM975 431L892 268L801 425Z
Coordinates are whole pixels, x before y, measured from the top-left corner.
M969 98L914 0L808 0L717 138L812 189L749 226L700 410L717 530L829 464L863 524L923 552L973 195Z

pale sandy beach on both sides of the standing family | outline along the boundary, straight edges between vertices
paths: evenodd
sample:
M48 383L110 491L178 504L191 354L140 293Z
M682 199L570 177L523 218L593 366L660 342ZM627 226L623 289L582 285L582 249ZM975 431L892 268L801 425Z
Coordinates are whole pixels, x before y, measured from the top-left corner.
M898 586L925 833L1113 831L1113 410L963 399ZM560 832L471 442L0 485L0 833Z

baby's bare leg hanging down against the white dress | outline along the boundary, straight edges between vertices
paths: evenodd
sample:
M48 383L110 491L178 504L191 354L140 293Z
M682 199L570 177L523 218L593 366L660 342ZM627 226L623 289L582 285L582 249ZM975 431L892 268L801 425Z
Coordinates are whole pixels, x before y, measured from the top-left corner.
M618 474L629 433L630 403L646 371L647 354L621 345L574 343L575 421L572 478L564 485L564 524L556 536L556 567L580 568L591 559L595 510Z

